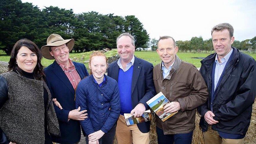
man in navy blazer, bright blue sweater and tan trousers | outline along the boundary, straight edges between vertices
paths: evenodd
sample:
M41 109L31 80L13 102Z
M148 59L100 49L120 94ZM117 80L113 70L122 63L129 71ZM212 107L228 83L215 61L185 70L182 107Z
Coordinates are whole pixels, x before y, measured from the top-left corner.
M153 65L134 56L135 40L131 34L121 34L116 44L120 58L108 68L108 76L118 82L120 93L121 113L116 126L116 139L121 144L148 144L150 121L127 126L124 113L140 117L149 109L146 102L156 94Z

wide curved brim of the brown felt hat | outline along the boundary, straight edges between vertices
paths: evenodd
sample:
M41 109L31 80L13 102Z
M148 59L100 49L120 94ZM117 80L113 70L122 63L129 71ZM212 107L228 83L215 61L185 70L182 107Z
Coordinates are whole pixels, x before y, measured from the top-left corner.
M41 52L42 52L43 57L45 57L46 59L54 59L54 57L51 56L51 54L49 52L50 47L58 47L58 46L61 46L64 44L67 44L67 47L70 52L75 45L75 40L74 39L66 39L66 40L61 40L61 41L53 42L48 45L42 46Z

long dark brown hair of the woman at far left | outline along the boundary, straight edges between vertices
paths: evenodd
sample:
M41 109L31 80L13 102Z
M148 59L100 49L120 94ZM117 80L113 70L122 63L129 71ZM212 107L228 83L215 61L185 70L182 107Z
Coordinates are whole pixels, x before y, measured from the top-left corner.
M37 45L29 39L20 39L13 46L12 51L11 51L11 55L10 55L8 71L11 71L11 70L12 71L17 71L18 73L23 75L22 70L16 64L16 62L17 62L16 61L16 56L17 56L17 54L18 54L18 52L19 52L19 50L22 46L25 46L25 47L29 48L29 50L31 50L32 52L34 52L37 55L37 65L34 68L34 77L35 77L35 79L36 80L45 80L45 73L43 71L44 67L41 64L42 53L39 50L39 48L37 47Z

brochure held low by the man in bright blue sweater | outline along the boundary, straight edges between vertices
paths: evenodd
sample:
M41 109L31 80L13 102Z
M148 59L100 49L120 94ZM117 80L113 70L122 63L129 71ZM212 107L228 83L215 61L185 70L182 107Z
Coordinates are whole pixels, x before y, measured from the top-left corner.
M151 121L152 116L151 116L151 111L146 110L141 117L134 118L133 115L130 113L124 113L124 119L127 124L127 126L132 125L132 124L138 124L146 121Z

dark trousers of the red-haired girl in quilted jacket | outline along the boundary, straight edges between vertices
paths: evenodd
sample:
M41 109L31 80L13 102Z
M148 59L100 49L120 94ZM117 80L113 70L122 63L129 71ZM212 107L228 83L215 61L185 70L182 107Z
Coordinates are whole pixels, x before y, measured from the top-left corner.
M99 139L99 144L113 144L114 137L116 134L116 124ZM86 144L88 144L88 136L86 135Z

